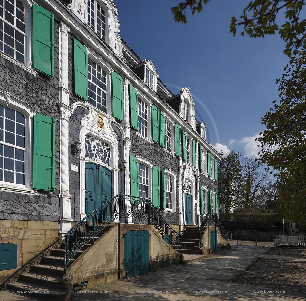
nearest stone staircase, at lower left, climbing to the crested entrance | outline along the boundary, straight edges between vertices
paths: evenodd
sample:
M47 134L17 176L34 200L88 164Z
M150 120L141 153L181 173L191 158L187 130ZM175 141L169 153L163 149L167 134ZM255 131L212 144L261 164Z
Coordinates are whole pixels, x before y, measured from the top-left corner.
M96 235L94 240L96 241L99 239L112 227L113 226L107 226ZM76 258L90 246L92 246L92 240L78 251L70 264L73 264ZM52 250L50 256L45 256L41 259L39 264L32 265L28 273L20 274L17 282L9 283L7 289L15 292L26 291L21 295L30 295L40 300L70 300L72 292L63 290L64 256L65 243L62 243L59 249ZM46 291L48 291L48 293L46 293Z

